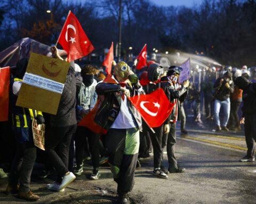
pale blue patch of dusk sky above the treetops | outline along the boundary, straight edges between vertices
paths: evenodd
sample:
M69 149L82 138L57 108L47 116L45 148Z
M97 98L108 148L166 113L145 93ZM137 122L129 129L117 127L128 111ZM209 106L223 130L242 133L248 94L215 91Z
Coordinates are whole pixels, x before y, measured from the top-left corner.
M191 7L193 4L201 4L203 0L150 0L151 2L154 2L157 5L162 6L187 6Z

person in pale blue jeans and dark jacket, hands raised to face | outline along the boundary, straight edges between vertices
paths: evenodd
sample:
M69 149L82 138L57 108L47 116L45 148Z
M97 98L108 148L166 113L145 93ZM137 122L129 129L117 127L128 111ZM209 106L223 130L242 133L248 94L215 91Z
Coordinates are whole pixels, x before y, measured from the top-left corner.
M216 131L229 131L227 123L230 113L230 99L229 96L234 92L234 82L232 81L232 73L228 70L223 74L223 77L218 78L213 88L214 94L214 120L216 124ZM220 108L223 108L223 120L220 123Z

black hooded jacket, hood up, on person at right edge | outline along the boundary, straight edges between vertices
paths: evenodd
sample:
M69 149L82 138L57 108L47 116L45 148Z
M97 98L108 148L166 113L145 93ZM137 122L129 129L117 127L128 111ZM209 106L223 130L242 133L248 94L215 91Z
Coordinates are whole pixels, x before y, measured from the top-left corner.
M243 117L256 114L256 83L251 83L245 77L237 77L235 84L243 90Z

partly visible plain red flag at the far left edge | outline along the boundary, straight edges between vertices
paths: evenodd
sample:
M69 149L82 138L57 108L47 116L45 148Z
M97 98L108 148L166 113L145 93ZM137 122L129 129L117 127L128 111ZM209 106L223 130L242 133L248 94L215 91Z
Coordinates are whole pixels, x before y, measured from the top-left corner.
M10 67L0 68L0 121L8 121Z

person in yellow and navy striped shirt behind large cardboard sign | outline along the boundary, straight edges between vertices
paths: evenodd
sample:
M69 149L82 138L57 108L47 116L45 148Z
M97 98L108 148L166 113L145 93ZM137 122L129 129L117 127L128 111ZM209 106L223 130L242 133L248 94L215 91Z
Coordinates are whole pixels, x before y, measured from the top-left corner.
M22 78L28 65L27 58L18 61L17 71L10 84L10 111L12 115L12 131L17 149L12 162L7 194L19 194L21 199L36 201L39 196L30 189L30 177L36 160L36 147L33 141L32 121L35 118L37 124L44 123L42 112L34 109L16 106Z

